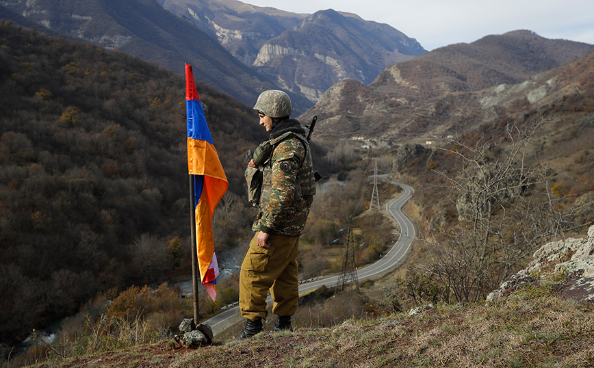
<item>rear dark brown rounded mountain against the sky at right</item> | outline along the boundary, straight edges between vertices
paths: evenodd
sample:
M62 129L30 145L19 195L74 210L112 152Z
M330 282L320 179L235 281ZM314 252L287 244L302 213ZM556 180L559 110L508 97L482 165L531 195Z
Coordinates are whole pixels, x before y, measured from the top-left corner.
M393 65L378 76L372 88L418 101L521 83L534 73L592 52L591 44L549 40L526 30L511 31L471 44L441 47L414 61Z

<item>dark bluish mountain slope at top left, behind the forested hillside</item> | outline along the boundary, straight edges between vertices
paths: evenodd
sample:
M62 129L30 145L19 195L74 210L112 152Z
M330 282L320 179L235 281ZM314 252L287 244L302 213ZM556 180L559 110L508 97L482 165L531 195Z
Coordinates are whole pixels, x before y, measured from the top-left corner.
M164 10L155 0L1 0L8 10L29 21L69 36L77 36L105 49L117 49L159 66L183 73L194 66L197 80L254 103L258 94L276 88L237 60L192 23ZM294 96L296 110L311 106Z

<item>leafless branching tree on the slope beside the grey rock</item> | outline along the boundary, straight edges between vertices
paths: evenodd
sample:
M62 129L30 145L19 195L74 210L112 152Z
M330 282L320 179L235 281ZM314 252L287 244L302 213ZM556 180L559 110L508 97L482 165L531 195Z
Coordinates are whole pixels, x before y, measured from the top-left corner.
M434 170L456 195L461 224L435 237L426 271L459 302L485 298L537 246L569 227L550 195L551 170L526 160L541 124L507 127L509 143L499 153L491 143L454 142L446 151L459 159L458 174Z

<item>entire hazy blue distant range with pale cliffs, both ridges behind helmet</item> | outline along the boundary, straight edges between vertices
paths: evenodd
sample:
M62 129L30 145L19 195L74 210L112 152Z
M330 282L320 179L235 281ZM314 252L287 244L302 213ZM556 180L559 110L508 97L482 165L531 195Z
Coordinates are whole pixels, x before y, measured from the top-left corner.
M370 83L386 66L426 52L389 25L331 9L294 14L234 0L159 1L247 66L314 103L337 81Z

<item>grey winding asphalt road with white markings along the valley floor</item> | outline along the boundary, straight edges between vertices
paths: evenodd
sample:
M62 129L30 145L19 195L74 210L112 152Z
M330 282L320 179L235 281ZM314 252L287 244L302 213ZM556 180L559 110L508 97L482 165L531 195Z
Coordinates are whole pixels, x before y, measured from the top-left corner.
M406 253L409 252L415 237L417 236L415 226L409 218L402 213L402 207L408 202L408 200L413 196L415 189L409 187L408 185L404 185L401 183L392 182L393 184L400 185L404 192L402 195L387 205L387 210L390 211L391 215L396 218L398 225L400 226L400 237L398 237L398 241L392 246L392 248L387 252L384 257L372 263L371 265L367 265L365 267L360 267L357 270L357 278L359 281L364 281L370 278L376 278L380 274L383 274L389 270L392 270L395 267L398 267L404 263L404 257ZM336 285L338 282L340 275L334 276L324 276L322 278L317 278L311 282L303 283L299 285L299 295L303 295L309 293L315 289L318 289L322 285L326 285L326 287L331 287ZM272 298L268 295L268 302L272 302ZM224 331L225 329L233 326L233 324L237 323L242 319L240 315L240 308L239 306L233 306L210 319L204 321L204 324L207 324L212 329L214 336L216 337L217 334Z

